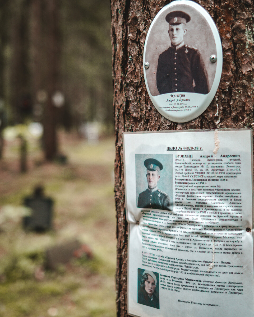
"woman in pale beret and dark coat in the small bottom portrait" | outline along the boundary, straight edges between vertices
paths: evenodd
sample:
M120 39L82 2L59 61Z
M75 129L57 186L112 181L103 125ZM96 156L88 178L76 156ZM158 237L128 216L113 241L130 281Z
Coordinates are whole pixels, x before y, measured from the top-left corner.
M152 271L145 270L140 281L138 303L154 308L160 308L159 299L155 295L157 279Z

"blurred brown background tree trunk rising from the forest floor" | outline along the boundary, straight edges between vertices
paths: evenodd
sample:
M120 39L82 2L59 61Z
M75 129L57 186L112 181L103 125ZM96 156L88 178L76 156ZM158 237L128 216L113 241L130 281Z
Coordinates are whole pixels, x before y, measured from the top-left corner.
M44 151L48 160L57 154L57 109L52 101L52 96L59 89L60 72L60 36L59 36L59 1L45 0L45 35L46 41L46 91L48 100L44 109Z

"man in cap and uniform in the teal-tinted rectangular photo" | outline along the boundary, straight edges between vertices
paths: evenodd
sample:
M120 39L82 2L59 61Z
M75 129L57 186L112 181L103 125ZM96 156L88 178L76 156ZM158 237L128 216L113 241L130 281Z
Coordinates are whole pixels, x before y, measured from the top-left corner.
M147 168L148 188L139 194L138 207L171 210L168 195L157 187L162 164L156 159L146 159L144 165Z

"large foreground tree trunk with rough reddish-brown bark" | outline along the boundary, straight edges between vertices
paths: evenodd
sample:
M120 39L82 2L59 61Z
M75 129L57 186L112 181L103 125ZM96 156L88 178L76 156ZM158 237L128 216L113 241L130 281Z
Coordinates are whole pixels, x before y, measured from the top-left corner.
M254 86L253 1L196 1L212 16L223 47L217 94L197 119L174 123L155 109L143 75L148 28L171 1L111 0L115 125L115 204L117 217L117 316L127 316L127 222L125 217L122 133L252 127Z

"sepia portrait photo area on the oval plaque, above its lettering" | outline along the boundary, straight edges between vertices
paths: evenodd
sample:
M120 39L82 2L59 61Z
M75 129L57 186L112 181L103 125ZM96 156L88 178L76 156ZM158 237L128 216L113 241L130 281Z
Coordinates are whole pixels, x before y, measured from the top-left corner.
M178 4L164 10L154 21L147 38L145 61L152 96L168 93L208 94L216 63L212 29L195 8Z

